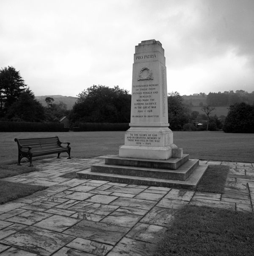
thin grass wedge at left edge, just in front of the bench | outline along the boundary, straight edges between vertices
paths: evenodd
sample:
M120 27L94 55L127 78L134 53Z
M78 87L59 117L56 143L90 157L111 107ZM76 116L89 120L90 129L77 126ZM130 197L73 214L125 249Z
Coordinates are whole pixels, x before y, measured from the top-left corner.
M29 167L25 165L0 165L0 178L6 178L14 175L19 175L22 173L31 173L38 171L36 167Z

